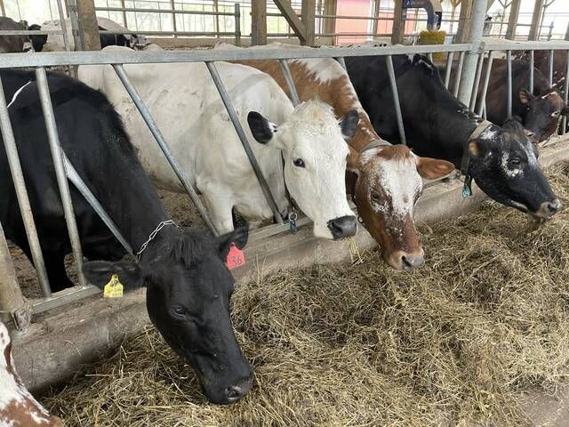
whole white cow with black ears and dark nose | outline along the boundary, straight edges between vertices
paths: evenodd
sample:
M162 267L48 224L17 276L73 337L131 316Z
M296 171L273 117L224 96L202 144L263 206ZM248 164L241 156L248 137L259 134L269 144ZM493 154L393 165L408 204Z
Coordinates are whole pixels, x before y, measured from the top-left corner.
M293 109L267 74L225 62L217 63L217 68L279 210L284 213L288 205L286 181L297 205L314 222L317 237L355 234L357 222L346 200L344 181L349 150L342 133L349 137L355 132L357 113L339 122L332 108L321 101ZM125 65L124 69L186 176L204 195L216 229L233 230L234 207L250 222L272 218L205 65ZM114 70L82 66L79 78L107 94L157 185L183 191Z

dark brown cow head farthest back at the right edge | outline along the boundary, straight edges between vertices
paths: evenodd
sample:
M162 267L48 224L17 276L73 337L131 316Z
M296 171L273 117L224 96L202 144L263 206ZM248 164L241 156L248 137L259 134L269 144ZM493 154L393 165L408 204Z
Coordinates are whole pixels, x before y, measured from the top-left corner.
M519 91L519 101L525 104L524 126L533 133L535 141L546 141L557 133L561 117L569 114L569 107L555 89L533 95L526 89Z

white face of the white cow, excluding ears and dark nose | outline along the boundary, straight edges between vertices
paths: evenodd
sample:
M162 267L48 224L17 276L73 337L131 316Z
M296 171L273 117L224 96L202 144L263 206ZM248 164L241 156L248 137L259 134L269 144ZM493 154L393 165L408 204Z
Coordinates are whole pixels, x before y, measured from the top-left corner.
M321 101L302 102L279 126L285 158L284 178L291 196L314 222L317 237L331 238L328 222L353 215L346 199L348 145L333 109ZM294 165L301 158L305 167Z

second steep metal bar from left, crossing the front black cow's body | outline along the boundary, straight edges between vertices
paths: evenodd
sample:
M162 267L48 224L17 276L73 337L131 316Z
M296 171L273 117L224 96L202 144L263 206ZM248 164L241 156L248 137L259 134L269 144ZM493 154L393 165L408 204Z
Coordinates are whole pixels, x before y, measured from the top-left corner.
M79 278L79 285L85 286L86 281L83 271L81 270L83 266L81 240L79 238L79 230L77 229L75 211L73 210L73 204L71 202L71 193L69 191L67 175L65 173L65 165L63 164L63 157L61 156L63 149L60 144L60 135L57 132L55 114L53 113L52 97L47 83L45 68L36 68L36 83L37 92L39 93L39 99L42 104L42 111L44 112L47 139L50 143L50 150L52 151L55 177L57 179L58 188L60 189L61 205L63 205L65 222L68 226L69 241L71 242L71 249L76 263L77 277Z

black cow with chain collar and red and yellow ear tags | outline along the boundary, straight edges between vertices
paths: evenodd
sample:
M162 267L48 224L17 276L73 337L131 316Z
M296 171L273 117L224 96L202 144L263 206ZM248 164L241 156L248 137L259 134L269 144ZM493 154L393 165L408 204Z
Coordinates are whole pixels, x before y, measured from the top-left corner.
M0 72L4 93L34 80L23 70ZM62 148L86 185L138 250L162 222L169 220L107 98L69 77L48 73ZM61 287L63 256L70 252L44 117L35 83L12 101L10 116L37 232L52 286ZM6 238L29 257L26 233L12 185L4 144L0 141L0 222ZM88 259L124 255L113 235L71 186L77 226ZM215 403L241 398L252 386L229 317L234 280L225 264L231 242L243 247L246 229L220 238L190 233L170 224L159 230L140 262L92 261L85 277L99 287L117 274L125 291L146 287L148 314L173 350L196 369L205 395ZM31 259L31 258L30 258Z

